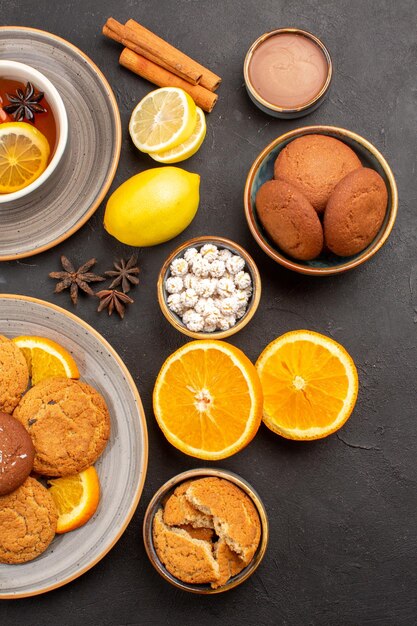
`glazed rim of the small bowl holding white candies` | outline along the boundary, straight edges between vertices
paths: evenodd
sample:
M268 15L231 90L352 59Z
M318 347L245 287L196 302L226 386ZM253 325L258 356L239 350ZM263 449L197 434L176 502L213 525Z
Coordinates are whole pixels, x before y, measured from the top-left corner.
M248 267L248 270L251 274L252 288L253 288L252 298L250 300L250 303L246 310L245 315L239 321L237 321L234 326L232 326L228 330L218 330L212 333L193 332L191 330L188 330L185 324L180 322L179 319L177 319L177 316L168 308L168 305L166 302L167 293L166 293L166 289L164 285L165 276L172 261L187 248L192 248L197 245L198 246L204 245L204 243L214 243L215 245L218 245L218 244L224 245L227 248L231 248L239 256L241 256L245 260L246 266ZM162 313L164 314L168 322L172 324L172 326L174 326L174 328L179 330L184 335L187 335L188 337L193 337L194 339L224 339L225 337L230 337L231 335L234 335L239 330L244 328L246 324L250 322L250 320L256 313L256 310L259 306L259 302L261 299L261 290L262 290L261 276L259 274L259 270L255 264L255 261L252 259L251 255L248 252L246 252L246 250L242 248L242 246L235 243L231 239L226 239L226 237L218 237L216 235L213 235L213 236L203 235L201 237L194 237L193 239L189 239L188 241L179 245L173 252L171 252L171 254L169 254L167 259L163 263L159 272L158 283L157 283L158 302L159 302L159 306L161 307Z

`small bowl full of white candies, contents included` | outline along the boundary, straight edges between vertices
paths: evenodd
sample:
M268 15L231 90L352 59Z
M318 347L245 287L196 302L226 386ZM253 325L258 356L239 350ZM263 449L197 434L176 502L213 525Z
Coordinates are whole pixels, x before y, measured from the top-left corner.
M165 261L158 300L167 320L194 339L229 337L252 319L261 278L252 257L223 237L196 237Z

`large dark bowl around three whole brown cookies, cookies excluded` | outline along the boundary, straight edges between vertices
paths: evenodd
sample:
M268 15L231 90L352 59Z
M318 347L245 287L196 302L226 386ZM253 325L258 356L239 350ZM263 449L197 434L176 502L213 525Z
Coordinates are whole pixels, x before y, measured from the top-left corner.
M384 222L365 250L351 257L338 257L329 253L322 253L313 261L296 261L287 256L271 241L260 223L255 206L256 193L261 185L274 177L274 162L280 151L293 139L304 135L328 135L346 143L360 158L364 167L370 167L380 174L388 190L388 206ZM274 261L284 267L312 276L329 276L341 274L347 270L362 265L382 248L394 226L398 209L398 192L394 174L382 154L369 141L356 133L335 126L305 126L292 130L277 139L274 139L255 159L249 170L244 191L245 215L252 232L261 248Z

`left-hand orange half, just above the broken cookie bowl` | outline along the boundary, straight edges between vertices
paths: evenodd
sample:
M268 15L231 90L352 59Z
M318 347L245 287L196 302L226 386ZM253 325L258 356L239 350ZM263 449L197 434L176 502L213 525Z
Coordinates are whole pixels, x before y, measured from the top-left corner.
M176 448L199 459L224 459L255 436L262 388L254 365L238 348L224 341L191 341L163 364L153 406Z

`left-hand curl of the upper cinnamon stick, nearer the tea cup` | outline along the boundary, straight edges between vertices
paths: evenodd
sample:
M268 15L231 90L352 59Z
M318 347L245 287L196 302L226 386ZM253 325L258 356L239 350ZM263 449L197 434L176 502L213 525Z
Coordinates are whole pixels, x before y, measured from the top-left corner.
M202 72L197 67L195 61L157 35L151 33L151 31L134 22L134 20L130 21L135 25L134 28L127 24L120 24L117 20L109 17L103 28L103 34L108 35L109 31L111 31L114 33L111 39L116 39L117 37L116 41L119 40L120 43L124 41L123 45L161 67L168 69L173 74L180 76L193 85L199 83Z

